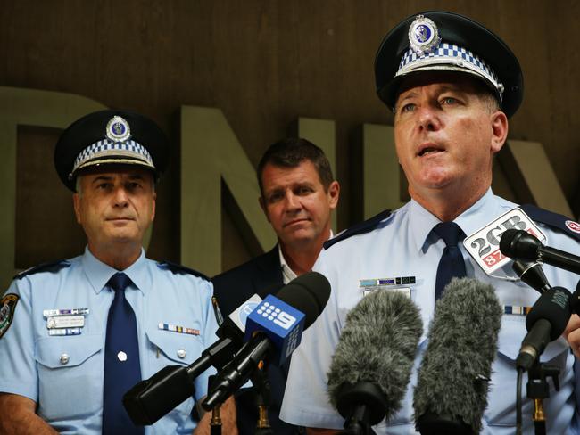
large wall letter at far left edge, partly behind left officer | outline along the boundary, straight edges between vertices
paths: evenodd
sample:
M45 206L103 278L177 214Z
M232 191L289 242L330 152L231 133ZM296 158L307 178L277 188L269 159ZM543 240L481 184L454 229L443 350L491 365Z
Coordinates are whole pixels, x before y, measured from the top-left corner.
M83 96L0 86L0 285L14 275L17 126L67 127L91 112L105 109ZM40 224L40 223L39 223Z

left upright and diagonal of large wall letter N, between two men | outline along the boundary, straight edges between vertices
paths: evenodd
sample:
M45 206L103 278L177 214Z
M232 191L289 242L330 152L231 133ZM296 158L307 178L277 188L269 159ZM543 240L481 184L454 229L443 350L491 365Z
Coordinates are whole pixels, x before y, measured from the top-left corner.
M181 108L181 262L221 270L221 179L262 250L276 237L258 205L256 172L219 109Z

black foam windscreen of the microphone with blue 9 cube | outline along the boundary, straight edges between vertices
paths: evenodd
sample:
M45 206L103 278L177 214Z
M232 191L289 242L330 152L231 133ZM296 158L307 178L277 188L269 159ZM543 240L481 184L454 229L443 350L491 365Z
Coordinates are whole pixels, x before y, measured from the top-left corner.
M276 297L301 311L306 317L304 329L308 328L326 307L330 296L330 283L318 272L308 272L287 283Z

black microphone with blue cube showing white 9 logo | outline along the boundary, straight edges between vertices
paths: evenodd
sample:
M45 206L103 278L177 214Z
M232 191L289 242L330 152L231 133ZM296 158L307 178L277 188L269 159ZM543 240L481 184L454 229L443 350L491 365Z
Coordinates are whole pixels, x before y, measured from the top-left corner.
M277 296L266 297L248 316L246 338L252 337L216 375L202 403L206 411L244 385L266 358L279 363L290 355L300 343L302 325L308 328L326 306L330 283L309 272L287 283Z

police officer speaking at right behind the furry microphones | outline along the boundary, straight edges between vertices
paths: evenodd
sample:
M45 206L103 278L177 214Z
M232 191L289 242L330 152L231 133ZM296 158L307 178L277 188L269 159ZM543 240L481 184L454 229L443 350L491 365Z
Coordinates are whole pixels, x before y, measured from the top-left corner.
M326 382L345 316L373 282L380 291L405 291L420 308L427 330L440 296L436 288L440 260L455 252L453 264L462 267L461 275L493 284L503 306L482 433L513 434L515 359L526 335L526 308L534 305L538 292L524 283L485 274L460 241L516 207L495 196L491 182L493 155L505 143L508 118L523 97L518 61L499 37L475 21L449 12L423 12L386 35L375 72L377 94L394 111L395 146L411 201L325 244L314 270L327 276L332 294L293 354L281 418L316 428L311 433L336 433L342 428L344 419L329 404ZM576 223L535 207L524 209L551 246L578 255ZM452 237L445 235L450 232ZM552 285L576 288L576 275L548 265L543 270ZM509 275L503 272L504 277ZM550 398L543 401L547 433L577 433L575 355L566 338L576 352L578 320L572 316L564 337L543 353L543 361L557 366L560 373L559 391L552 385ZM415 433L412 394L426 335L419 341L402 407L393 419L374 428L377 433ZM523 400L524 433L534 433L532 401Z

